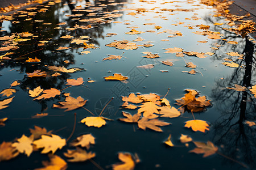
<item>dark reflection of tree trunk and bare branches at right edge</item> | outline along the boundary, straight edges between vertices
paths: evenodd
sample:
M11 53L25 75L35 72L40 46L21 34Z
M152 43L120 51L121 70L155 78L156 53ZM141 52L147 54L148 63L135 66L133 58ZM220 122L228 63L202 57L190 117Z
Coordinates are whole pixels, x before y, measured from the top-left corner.
M217 80L216 88L212 91L215 105L221 112L221 117L214 123L214 141L224 145L226 155L255 168L255 129L245 124L245 120L255 120L255 100L249 90L238 92L226 89L234 84L251 87L251 80L256 73L256 59L253 57L254 44L247 39L245 41L245 59L240 61L240 65L245 65L245 68L238 67L231 76Z

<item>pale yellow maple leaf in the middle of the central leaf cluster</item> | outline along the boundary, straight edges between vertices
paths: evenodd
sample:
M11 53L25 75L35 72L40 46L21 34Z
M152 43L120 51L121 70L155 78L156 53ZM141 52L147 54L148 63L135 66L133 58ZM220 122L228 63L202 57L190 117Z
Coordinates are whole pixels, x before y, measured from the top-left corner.
M158 110L160 110L160 107L158 107L155 103L153 102L145 102L142 105L140 105L139 107L141 107L140 109L138 109L138 114L139 113L143 113L144 117L147 118L156 118L158 117L157 115L153 114L153 113L157 113L159 114Z

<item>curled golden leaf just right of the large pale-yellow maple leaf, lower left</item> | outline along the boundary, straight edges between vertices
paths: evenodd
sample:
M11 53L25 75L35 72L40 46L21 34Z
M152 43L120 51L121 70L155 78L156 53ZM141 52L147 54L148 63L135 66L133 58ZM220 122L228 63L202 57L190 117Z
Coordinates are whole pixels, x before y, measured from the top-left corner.
M95 144L95 138L92 134L85 134L81 135L80 137L77 137L75 141L71 143L71 146L81 146L86 147L88 150L90 148L90 145Z

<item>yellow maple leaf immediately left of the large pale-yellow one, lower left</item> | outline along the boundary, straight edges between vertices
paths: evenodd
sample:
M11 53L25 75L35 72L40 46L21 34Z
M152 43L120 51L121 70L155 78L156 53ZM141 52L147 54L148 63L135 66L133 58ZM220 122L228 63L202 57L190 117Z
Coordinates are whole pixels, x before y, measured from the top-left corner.
M24 153L29 157L33 151L32 142L34 141L34 135L26 137L26 135L23 134L21 138L17 139L17 141L18 142L13 143L11 146L15 147L20 153Z

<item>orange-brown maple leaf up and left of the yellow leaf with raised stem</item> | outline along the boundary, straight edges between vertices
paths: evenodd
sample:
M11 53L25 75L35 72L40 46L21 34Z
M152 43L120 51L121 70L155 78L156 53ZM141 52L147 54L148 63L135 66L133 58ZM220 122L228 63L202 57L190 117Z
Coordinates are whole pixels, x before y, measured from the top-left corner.
M74 98L66 97L65 101L59 101L60 105L53 104L53 108L66 109L64 112L72 111L85 105L87 100L82 99L81 96Z

